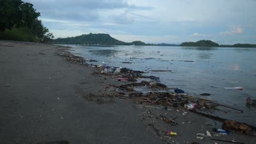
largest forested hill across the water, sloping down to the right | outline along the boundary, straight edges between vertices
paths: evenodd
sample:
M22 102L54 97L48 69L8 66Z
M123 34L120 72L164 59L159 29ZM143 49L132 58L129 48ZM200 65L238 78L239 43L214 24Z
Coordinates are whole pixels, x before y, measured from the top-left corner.
M74 45L146 45L142 41L133 41L125 43L124 41L112 38L109 34L83 34L77 37L57 38L54 44L74 44Z

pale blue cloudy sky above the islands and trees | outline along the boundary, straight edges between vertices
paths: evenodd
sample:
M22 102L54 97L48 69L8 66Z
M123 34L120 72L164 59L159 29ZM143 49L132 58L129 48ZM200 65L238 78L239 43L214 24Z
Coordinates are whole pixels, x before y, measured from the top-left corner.
M55 38L108 33L125 42L256 44L256 0L24 0Z

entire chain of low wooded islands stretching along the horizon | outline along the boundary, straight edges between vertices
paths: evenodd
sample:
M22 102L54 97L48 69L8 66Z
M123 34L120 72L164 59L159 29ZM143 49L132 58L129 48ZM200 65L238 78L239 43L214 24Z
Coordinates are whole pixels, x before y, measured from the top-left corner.
M199 46L199 47L256 47L255 44L234 44L234 45L219 45L211 40L199 40L196 42L184 42L180 45L176 44L146 44L142 41L133 41L126 43L124 41L112 38L109 34L82 34L77 37L57 38L53 39L53 44L69 44L69 45L151 45L151 46Z

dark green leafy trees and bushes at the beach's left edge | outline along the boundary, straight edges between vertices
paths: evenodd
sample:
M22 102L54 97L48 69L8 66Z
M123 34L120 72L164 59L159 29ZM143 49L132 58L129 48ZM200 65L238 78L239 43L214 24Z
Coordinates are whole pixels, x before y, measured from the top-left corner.
M33 4L21 0L0 0L0 39L48 42L54 38L38 20Z

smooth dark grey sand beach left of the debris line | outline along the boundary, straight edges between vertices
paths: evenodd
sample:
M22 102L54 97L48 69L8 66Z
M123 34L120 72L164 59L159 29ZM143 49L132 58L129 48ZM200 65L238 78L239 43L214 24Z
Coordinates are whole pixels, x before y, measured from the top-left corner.
M58 49L0 41L0 143L255 143L255 137L240 133L217 135L212 128L221 123L184 109L95 96L109 93L108 83L120 82L91 75L92 69L65 61ZM178 117L177 125L165 123L160 115ZM177 136L167 136L168 130ZM206 131L212 137L197 139L197 133Z

